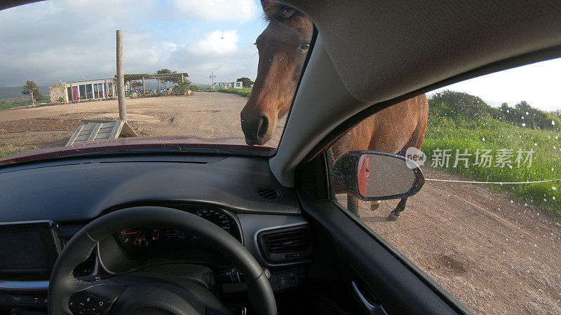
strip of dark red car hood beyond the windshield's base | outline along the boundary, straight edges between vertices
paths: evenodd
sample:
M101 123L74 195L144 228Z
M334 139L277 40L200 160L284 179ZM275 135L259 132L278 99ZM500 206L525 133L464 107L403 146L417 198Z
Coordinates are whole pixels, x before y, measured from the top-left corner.
M123 150L173 150L189 151L193 149L222 150L227 152L248 153L253 155L270 155L276 150L273 146L248 146L241 138L202 139L196 137L142 137L120 138L108 141L95 141L88 144L76 144L58 148L43 148L0 158L1 164L62 158L69 155L100 153L103 151Z

